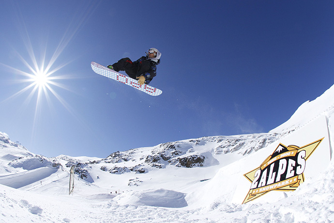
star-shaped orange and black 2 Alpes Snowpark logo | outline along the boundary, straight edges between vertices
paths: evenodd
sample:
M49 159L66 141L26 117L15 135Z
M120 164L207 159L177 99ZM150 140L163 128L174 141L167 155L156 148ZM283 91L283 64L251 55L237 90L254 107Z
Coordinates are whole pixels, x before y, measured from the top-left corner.
M306 160L324 138L298 147L280 143L276 150L255 170L244 176L252 183L243 204L269 191L294 191L304 182Z

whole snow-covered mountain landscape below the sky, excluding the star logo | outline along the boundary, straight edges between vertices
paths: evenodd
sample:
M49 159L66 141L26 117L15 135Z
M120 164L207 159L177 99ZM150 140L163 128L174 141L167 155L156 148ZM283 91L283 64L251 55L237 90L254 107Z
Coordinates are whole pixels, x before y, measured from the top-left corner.
M333 96L334 86L269 133L168 142L106 158L47 158L0 132L0 222L334 221ZM304 146L320 138L296 191L242 204L251 186L243 175L279 143Z

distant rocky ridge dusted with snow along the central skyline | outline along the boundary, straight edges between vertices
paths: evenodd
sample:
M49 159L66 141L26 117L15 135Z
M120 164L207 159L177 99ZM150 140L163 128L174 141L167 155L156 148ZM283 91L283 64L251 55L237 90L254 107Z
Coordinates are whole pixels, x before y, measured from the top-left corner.
M80 159L62 155L53 158L53 161L63 163L63 167L66 168L75 165L75 173L82 179L89 178L91 182L89 170L92 168L98 168L110 174L144 174L167 166L194 168L219 165L216 157L228 153L251 154L277 141L282 135L284 134L263 133L202 137L162 143L153 147L117 151L105 159L91 159L84 162Z

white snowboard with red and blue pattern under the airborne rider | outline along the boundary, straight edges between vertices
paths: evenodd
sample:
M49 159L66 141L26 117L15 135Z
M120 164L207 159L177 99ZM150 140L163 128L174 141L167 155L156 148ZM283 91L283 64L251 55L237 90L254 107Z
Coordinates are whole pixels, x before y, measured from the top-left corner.
M101 64L97 64L95 62L91 62L91 69L99 75L105 76L107 78L110 78L112 80L116 80L118 82L124 83L126 85L129 85L133 88L138 89L139 91L145 92L146 94L152 95L152 96L158 96L161 95L162 91L154 88L147 84L138 84L137 80L134 80L128 76L125 76L121 73L118 73L112 69L109 69Z

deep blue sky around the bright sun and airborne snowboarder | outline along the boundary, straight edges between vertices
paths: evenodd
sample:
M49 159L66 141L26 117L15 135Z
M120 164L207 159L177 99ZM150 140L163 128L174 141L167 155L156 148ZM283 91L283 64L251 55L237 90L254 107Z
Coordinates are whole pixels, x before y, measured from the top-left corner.
M268 132L334 84L333 15L331 0L4 1L0 131L47 157L101 158ZM151 47L162 53L150 84L161 96L91 70ZM19 93L33 58L52 64L51 90Z

